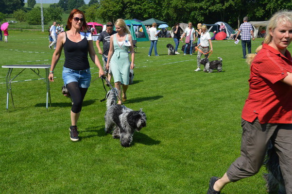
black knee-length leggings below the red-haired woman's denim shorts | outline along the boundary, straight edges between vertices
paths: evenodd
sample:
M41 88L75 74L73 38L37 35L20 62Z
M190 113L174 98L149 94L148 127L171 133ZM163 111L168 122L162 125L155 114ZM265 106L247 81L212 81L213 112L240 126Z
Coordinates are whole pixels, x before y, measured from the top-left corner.
M88 88L80 88L76 81L68 83L66 88L68 89L73 101L71 111L73 113L79 113L82 109L82 102Z

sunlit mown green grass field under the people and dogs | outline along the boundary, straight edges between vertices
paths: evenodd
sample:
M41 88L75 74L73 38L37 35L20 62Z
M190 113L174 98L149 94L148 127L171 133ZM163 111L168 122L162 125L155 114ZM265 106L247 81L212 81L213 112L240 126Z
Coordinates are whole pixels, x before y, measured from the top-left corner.
M253 52L261 41L252 42ZM48 33L9 31L8 43L0 42L1 65L51 64L48 42ZM147 127L135 133L128 148L104 132L100 79L85 97L81 141L70 141L71 103L61 94L64 53L50 84L48 111L45 82L24 81L38 78L26 69L12 83L15 109L10 100L7 112L7 69L0 68L1 193L205 194L209 178L223 176L240 156L249 66L240 44L213 41L210 60L222 57L223 72L194 72L197 55L168 56L168 43L174 45L173 39L159 39L159 57L148 57L150 42L137 43L134 84L125 105L143 108ZM91 61L90 66L93 80L98 68ZM222 193L265 194L263 172L227 185Z

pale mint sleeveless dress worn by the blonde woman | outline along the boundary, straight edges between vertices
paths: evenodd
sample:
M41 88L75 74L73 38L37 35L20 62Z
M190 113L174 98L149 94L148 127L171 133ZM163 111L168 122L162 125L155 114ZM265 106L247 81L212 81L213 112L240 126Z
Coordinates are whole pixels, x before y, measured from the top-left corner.
M128 39L128 34L126 35L126 39ZM129 75L130 75L130 60L129 60L129 47L124 45L124 41L122 45L118 45L117 42L117 34L114 34L113 39L114 44L114 54L110 60L111 70L114 77L114 81L120 81L124 85L129 85Z

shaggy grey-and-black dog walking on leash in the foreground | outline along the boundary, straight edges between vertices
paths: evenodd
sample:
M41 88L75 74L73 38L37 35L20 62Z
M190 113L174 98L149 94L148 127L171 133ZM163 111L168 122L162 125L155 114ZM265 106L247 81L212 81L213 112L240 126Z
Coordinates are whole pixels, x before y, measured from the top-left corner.
M117 89L115 88L116 92ZM106 112L104 115L105 132L112 130L113 138L120 138L120 145L130 146L135 130L140 131L146 127L146 114L140 109L133 111L123 105L117 104L117 97L113 90L108 91ZM118 92L117 92L118 93Z

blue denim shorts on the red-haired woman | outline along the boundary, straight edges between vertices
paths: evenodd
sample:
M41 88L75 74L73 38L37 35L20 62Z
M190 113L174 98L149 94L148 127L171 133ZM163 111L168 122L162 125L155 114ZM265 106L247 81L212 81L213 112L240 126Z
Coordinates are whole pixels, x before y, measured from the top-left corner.
M88 88L91 81L90 68L85 70L73 70L63 66L63 81L65 85L70 82L78 82L80 88Z

